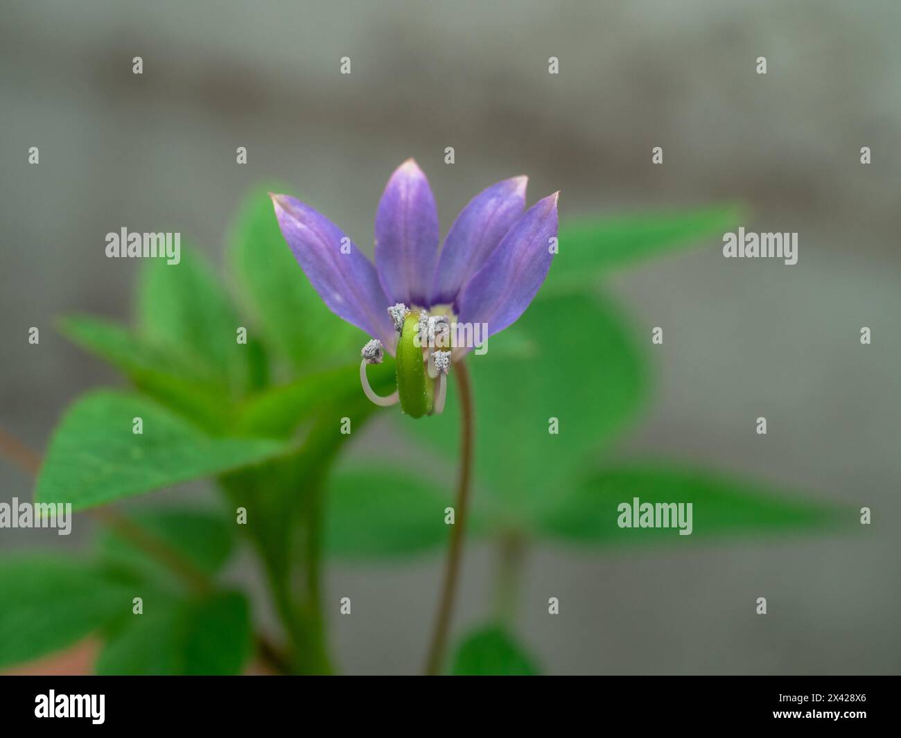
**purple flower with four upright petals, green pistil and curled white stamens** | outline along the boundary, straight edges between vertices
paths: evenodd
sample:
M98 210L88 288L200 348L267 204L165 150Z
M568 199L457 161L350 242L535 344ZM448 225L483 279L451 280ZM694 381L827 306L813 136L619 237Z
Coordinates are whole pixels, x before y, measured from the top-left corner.
M376 395L366 378L367 364L380 362L384 349L397 353L405 410L440 413L451 358L459 360L472 346L436 346L423 336L433 337L436 326L440 331L461 324L486 326L487 338L514 323L532 302L557 251L559 193L523 213L525 186L525 177L514 177L473 197L439 253L432 188L416 162L407 159L391 175L378 204L375 266L324 215L294 197L272 196L282 234L316 292L333 313L373 337L363 347L360 378L374 402L393 405L398 399L397 393ZM405 350L410 341L415 351ZM416 371L402 372L400 362L402 353L418 361L418 351L423 387L429 392L427 406L416 410L404 402L404 385L411 376L419 378ZM438 387L432 387L435 378Z

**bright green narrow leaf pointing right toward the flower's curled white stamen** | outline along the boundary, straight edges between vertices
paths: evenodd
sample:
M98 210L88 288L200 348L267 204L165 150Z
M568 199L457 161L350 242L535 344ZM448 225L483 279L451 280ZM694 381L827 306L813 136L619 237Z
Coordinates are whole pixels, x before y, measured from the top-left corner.
M369 385L382 394L395 386L395 364L386 356L382 364L367 369ZM359 362L305 374L278 387L250 396L238 411L237 430L271 438L284 438L310 415L329 407L358 405L363 398L359 384ZM341 415L338 415L341 417Z

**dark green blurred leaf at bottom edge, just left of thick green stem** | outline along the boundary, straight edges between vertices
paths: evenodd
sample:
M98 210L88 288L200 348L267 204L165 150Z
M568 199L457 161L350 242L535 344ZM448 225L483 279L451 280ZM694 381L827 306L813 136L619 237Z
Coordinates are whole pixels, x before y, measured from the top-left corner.
M112 633L98 674L239 674L252 647L250 606L237 592L132 615Z

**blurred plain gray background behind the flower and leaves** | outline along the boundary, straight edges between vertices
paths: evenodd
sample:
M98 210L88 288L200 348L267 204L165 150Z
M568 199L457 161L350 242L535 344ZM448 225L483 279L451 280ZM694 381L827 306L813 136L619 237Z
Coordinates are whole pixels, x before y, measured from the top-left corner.
M52 329L76 310L128 317L138 265L105 259L106 232L177 230L219 260L260 179L289 183L360 244L409 156L443 229L521 173L531 200L562 190L564 218L740 199L749 230L799 232L798 264L724 260L714 238L616 274L636 331L666 338L654 401L615 453L870 506L873 524L682 552L531 551L519 632L551 673L897 673L899 31L888 0L5 0L0 425L43 449L77 393L115 381ZM30 494L0 460L0 498ZM79 527L53 543L76 545ZM36 543L0 532L5 549ZM469 551L458 629L487 614L494 566L493 551ZM354 602L332 618L343 670L419 670L440 567L330 567L330 596Z

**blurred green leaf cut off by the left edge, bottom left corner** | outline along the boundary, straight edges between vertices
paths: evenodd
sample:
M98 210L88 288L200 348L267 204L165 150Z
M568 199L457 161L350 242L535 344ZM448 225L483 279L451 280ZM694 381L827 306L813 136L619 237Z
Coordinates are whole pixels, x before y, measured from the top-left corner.
M98 570L49 554L0 562L0 600L0 666L59 651L132 606Z

